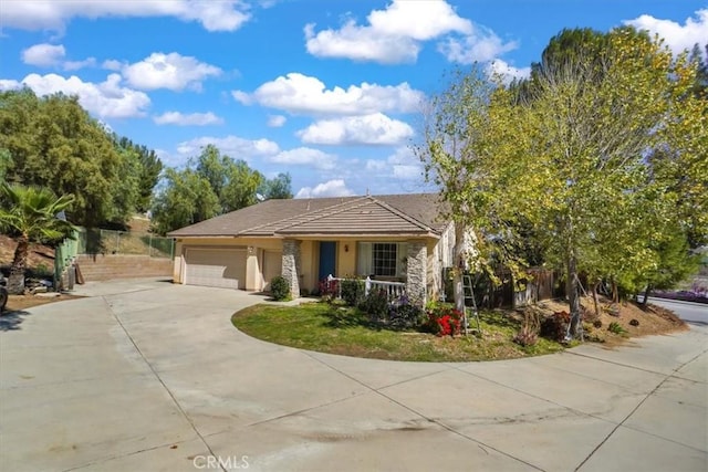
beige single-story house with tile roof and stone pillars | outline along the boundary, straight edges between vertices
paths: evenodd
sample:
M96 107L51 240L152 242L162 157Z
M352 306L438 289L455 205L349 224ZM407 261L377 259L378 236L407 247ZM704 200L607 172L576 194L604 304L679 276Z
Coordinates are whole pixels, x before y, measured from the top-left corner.
M430 296L455 247L440 204L436 193L267 200L170 232L174 281L268 291L283 275L299 295L329 275L371 276Z

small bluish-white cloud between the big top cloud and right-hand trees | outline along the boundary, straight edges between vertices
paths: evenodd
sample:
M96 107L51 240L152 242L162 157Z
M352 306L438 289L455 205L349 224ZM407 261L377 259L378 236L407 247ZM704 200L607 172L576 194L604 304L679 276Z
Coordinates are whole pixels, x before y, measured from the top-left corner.
M488 62L494 57L518 48L514 41L504 43L493 31L475 27L473 31L464 38L448 38L438 44L438 51L448 61L460 64Z

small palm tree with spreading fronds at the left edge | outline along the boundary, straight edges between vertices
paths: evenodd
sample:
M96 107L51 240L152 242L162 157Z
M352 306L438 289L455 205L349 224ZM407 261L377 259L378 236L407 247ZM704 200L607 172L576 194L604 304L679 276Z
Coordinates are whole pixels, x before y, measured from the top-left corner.
M56 197L50 189L3 182L0 188L0 229L9 232L18 243L10 266L8 292L24 292L24 272L30 242L53 242L67 237L74 229L70 222L56 218L69 208L74 197Z

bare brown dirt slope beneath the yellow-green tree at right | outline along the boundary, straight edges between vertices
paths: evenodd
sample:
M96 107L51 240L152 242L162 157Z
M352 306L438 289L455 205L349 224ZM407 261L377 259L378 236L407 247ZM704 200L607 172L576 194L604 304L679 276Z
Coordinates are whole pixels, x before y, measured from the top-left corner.
M612 303L600 297L600 315L595 314L592 297L583 297L583 327L586 340L604 343L608 347L624 344L628 338L663 335L688 329L688 325L674 312L657 305L639 305L635 302ZM568 312L568 303L544 301L538 308L544 315ZM611 325L613 326L611 331Z

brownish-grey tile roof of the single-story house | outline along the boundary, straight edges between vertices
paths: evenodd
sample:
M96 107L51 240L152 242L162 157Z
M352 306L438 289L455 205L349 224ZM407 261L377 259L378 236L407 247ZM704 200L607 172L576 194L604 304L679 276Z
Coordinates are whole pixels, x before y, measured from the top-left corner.
M336 197L264 202L169 233L170 237L440 234L437 193Z

